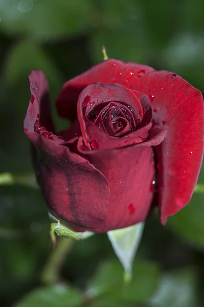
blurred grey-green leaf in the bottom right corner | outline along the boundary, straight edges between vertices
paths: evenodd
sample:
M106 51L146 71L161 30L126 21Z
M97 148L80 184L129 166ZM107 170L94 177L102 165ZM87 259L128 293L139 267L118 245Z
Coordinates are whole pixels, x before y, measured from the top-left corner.
M156 293L149 300L152 307L192 307L196 305L197 273L186 267L165 273Z

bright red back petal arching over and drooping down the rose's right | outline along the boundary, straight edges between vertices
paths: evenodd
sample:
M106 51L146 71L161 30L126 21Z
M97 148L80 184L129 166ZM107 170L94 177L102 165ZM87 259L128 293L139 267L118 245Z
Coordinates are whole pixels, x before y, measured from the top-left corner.
M204 123L200 92L176 74L110 59L64 84L57 100L59 114L74 116L79 93L93 82L119 83L148 95L154 121L168 131L156 147L160 216L165 224L168 215L190 201L201 167Z

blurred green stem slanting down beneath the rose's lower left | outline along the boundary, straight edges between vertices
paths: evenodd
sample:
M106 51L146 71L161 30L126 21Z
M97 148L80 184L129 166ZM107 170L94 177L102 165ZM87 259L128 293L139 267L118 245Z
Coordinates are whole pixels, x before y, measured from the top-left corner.
M73 246L74 240L60 237L56 248L52 251L48 258L47 264L43 269L41 280L44 284L56 284L60 279L60 270L63 266L67 254Z

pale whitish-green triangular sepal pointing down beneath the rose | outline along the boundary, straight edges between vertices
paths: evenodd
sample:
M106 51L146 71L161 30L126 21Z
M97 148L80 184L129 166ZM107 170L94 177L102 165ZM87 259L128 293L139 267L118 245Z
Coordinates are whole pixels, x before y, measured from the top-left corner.
M140 244L143 228L144 223L139 223L107 232L112 247L124 267L126 276L131 275L132 262Z

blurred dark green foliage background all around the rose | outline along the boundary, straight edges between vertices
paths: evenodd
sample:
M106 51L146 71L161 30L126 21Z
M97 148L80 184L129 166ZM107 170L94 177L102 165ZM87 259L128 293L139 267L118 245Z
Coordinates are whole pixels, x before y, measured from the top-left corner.
M174 71L203 92L203 11L203 0L0 0L0 172L32 174L22 134L31 70L47 75L54 105L63 82L102 61L104 45L109 57ZM0 305L202 307L203 195L165 227L156 212L148 218L127 288L105 234L75 243L64 283L44 287L47 206L36 188L0 186Z

